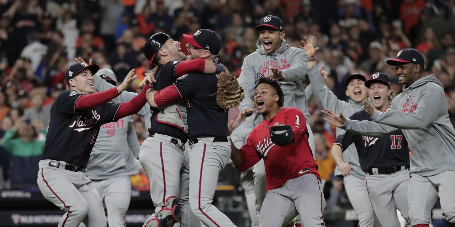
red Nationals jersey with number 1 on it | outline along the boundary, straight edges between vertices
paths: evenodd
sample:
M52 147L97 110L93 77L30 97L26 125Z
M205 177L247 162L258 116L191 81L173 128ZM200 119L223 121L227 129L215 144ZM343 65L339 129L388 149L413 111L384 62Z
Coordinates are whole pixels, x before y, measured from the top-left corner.
M292 126L295 141L279 147L270 139L270 128L275 123ZM245 171L264 158L267 176L266 190L281 187L288 179L313 173L320 179L317 164L308 144L308 129L303 113L298 108L282 108L269 121L263 120L248 135L240 148L242 163L237 168Z

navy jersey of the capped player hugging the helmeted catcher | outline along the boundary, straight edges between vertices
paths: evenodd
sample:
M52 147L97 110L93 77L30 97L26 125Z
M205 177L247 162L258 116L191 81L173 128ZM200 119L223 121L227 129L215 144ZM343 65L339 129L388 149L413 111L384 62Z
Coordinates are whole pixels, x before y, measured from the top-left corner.
M228 111L217 105L218 74L186 74L174 86L186 98L188 138L227 136Z

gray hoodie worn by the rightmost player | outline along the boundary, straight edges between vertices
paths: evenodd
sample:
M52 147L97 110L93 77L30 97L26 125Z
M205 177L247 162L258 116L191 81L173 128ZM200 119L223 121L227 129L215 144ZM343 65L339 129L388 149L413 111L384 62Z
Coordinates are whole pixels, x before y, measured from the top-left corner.
M340 128L374 137L400 128L411 150L410 173L433 176L455 171L455 130L435 74L405 86L387 111L374 110L371 118L375 122L346 119Z

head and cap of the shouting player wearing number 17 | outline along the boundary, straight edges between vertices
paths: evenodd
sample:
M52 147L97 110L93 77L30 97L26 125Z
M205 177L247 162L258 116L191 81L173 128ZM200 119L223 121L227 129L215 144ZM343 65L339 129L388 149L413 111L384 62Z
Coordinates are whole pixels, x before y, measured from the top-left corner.
M369 88L369 97L373 109L384 112L389 108L389 96L392 93L389 76L385 73L374 73L367 81L365 86Z

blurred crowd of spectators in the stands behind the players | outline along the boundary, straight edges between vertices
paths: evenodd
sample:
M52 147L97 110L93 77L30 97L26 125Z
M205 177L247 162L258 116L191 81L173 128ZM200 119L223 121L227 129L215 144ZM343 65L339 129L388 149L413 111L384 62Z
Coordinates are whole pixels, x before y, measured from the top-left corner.
M218 55L238 76L243 59L255 51L264 15L284 22L294 47L315 36L315 58L329 73L327 86L347 100L344 78L389 75L398 93L395 68L385 64L399 49L415 48L425 57L423 75L435 73L445 88L455 121L455 0L3 0L0 1L0 188L36 183L36 170L53 100L66 89L65 72L75 57L93 59L122 81L135 68L137 90L148 60L147 38L165 32L182 44L182 34L201 28L222 38ZM303 80L304 86L308 80ZM349 208L343 181L333 176L330 155L334 128L320 115L317 100L308 104L319 173L328 182L327 210ZM140 142L144 125L135 117ZM34 130L32 130L34 129ZM136 179L133 183L146 184ZM327 186L326 185L326 186ZM145 187L148 188L148 187ZM329 196L331 194L331 196Z

